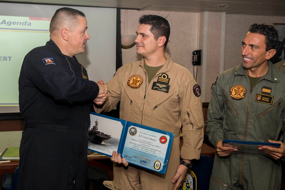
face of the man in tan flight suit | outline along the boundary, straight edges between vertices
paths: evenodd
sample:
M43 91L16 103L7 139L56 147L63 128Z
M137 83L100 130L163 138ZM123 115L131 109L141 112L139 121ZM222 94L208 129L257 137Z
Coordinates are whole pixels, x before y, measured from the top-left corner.
M158 40L154 39L153 34L150 32L150 25L140 24L137 29L137 54L143 57L148 57L155 54L158 50Z

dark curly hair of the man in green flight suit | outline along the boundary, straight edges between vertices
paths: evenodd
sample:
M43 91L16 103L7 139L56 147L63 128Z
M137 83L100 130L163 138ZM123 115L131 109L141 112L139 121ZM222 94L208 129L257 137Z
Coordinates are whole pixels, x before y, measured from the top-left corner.
M254 34L262 34L265 36L266 51L276 49L279 41L278 30L271 25L266 24L252 24L249 26L249 32Z

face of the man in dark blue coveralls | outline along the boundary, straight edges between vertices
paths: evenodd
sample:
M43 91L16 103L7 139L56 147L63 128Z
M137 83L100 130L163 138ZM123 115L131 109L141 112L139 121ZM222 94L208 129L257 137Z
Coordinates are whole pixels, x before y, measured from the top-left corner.
M90 39L87 33L87 21L84 17L78 17L78 26L69 33L70 57L85 52L85 43Z

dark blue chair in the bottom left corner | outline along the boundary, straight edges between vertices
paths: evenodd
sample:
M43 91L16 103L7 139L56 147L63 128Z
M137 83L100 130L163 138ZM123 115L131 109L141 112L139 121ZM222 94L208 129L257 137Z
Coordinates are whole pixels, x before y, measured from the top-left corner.
M19 166L16 167L13 173L4 172L1 179L1 188L3 190L17 190L19 179Z

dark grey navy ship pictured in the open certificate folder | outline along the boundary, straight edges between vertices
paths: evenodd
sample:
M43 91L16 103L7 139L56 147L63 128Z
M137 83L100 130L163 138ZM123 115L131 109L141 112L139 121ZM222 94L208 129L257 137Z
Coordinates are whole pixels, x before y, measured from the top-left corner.
M88 139L92 142L104 144L106 140L110 140L111 135L98 131L98 120L96 119L92 129L88 131Z

